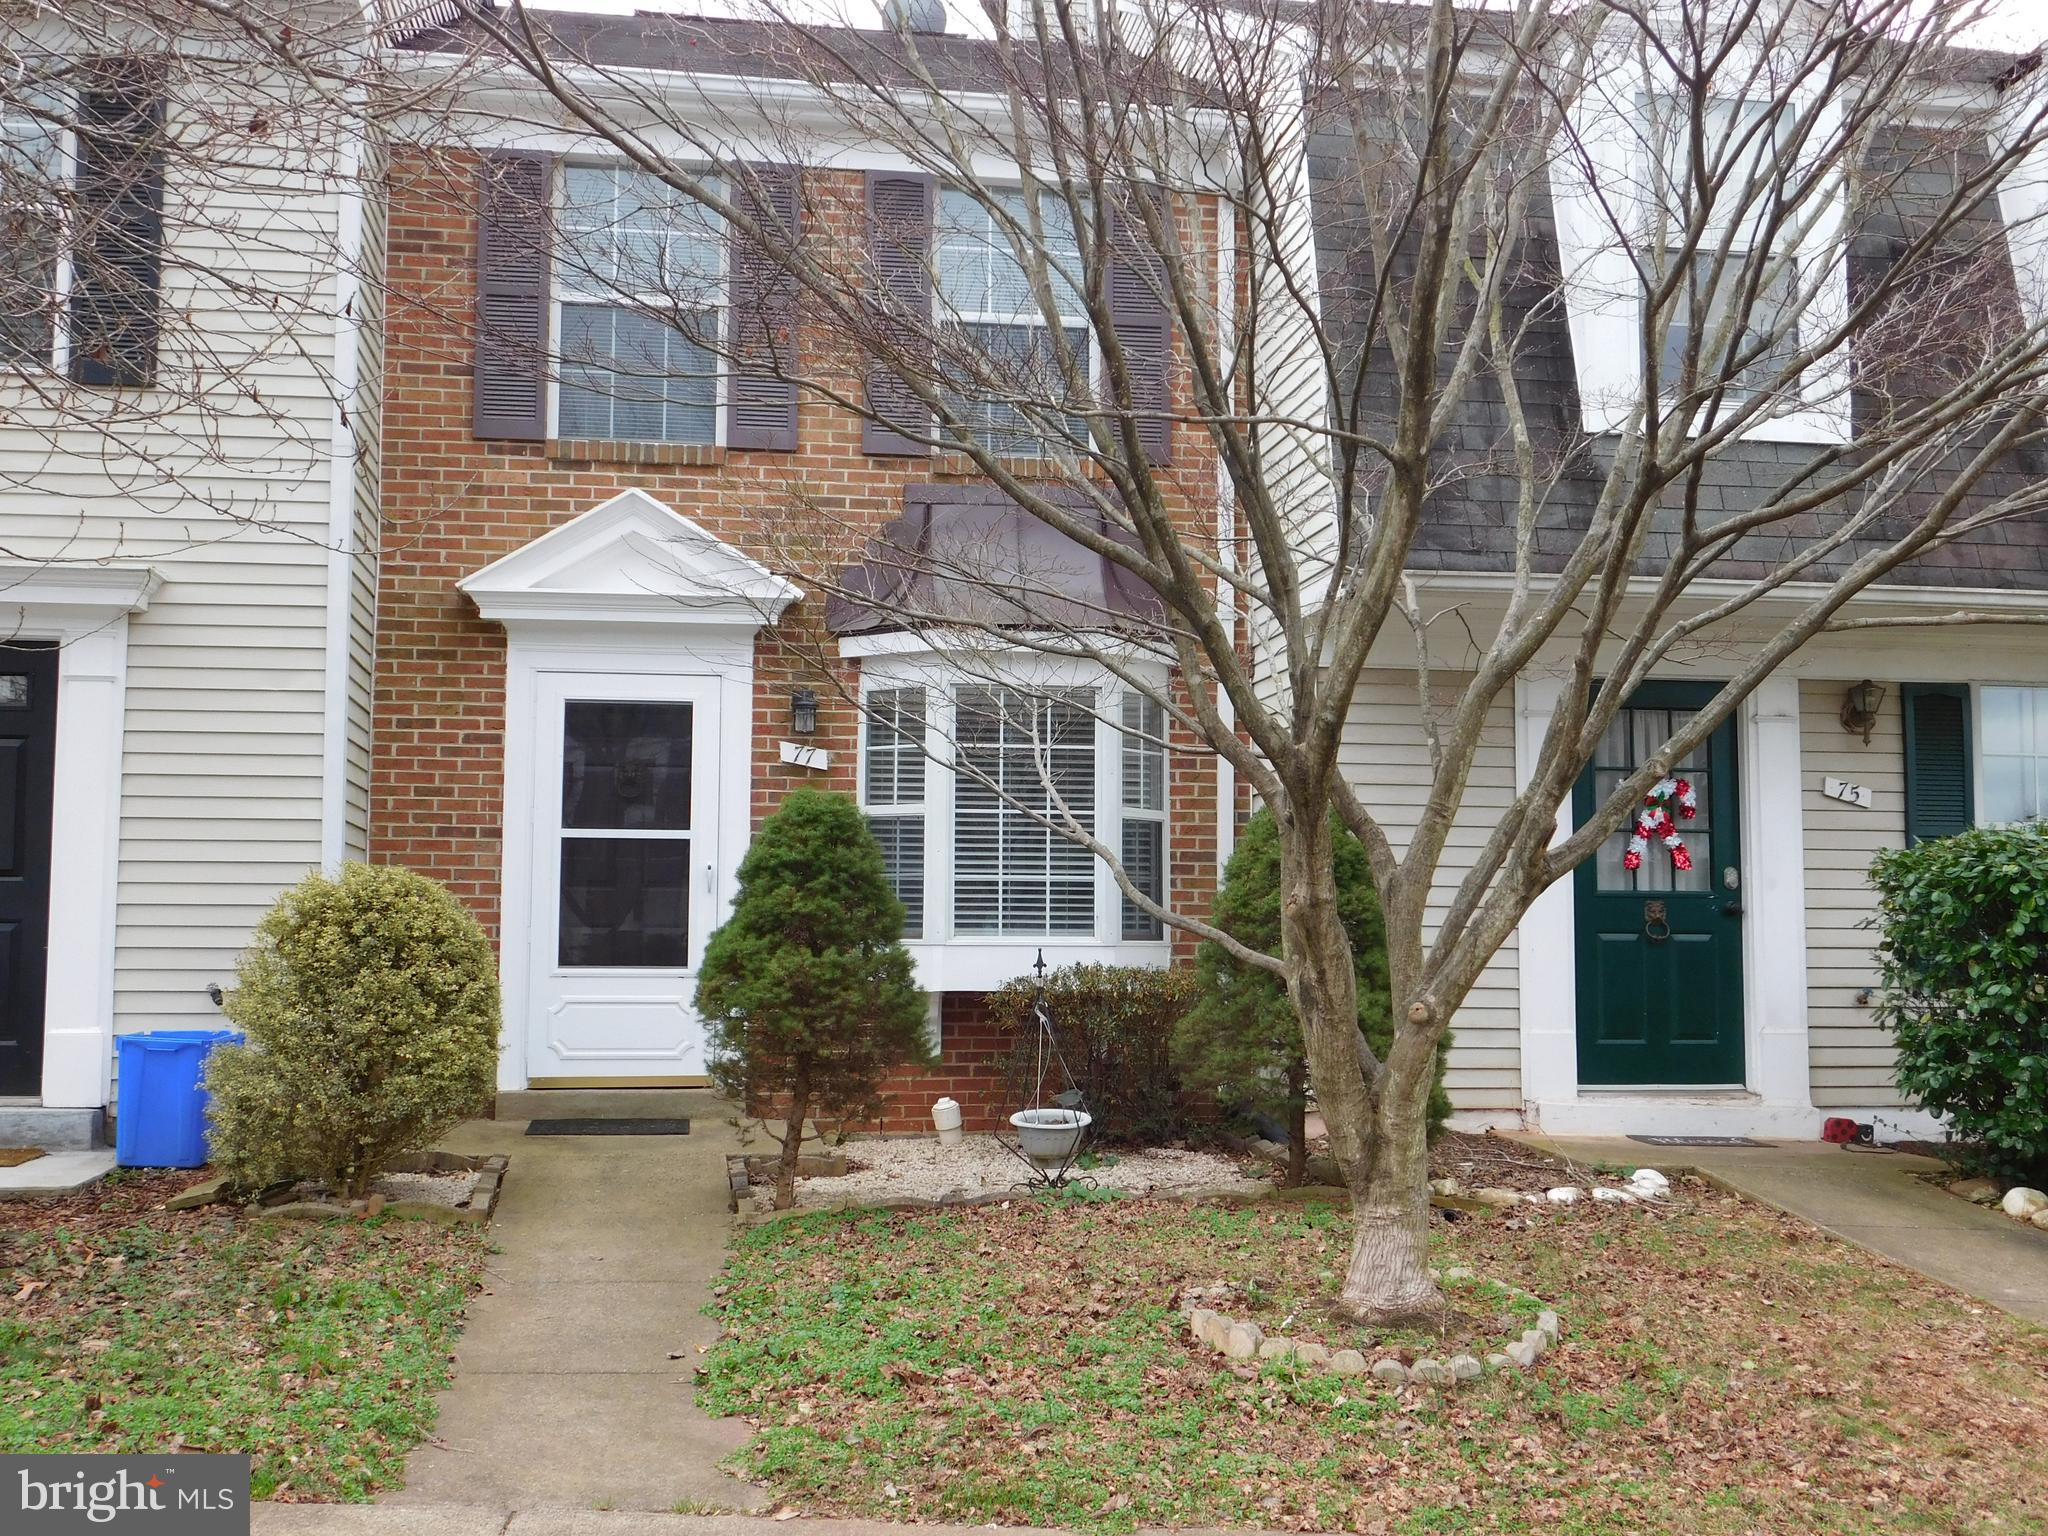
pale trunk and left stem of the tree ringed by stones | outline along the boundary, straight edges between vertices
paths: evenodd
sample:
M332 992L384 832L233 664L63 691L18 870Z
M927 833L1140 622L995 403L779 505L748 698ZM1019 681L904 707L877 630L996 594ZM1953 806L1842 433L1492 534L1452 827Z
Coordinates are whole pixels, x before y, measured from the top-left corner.
M1436 1049L1419 1026L1401 1026L1389 1061L1368 1067L1323 813L1280 819L1280 938L1309 1081L1329 1126L1331 1157L1352 1190L1356 1231L1337 1305L1368 1327L1434 1321L1444 1307L1430 1280L1427 1110Z

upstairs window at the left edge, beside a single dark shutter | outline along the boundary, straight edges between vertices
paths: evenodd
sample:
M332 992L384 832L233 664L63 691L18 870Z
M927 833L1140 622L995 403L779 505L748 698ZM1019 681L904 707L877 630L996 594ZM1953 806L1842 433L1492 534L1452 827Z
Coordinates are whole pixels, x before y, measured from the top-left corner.
M47 369L55 348L63 102L0 90L0 369Z

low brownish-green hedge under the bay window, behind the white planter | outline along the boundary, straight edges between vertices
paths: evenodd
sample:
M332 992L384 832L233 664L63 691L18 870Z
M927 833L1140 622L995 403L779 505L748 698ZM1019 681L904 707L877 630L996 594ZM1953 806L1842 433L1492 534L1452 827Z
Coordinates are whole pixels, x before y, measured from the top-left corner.
M1032 1006L1036 977L1018 977L989 993L989 1012L1016 1038L1018 1067L1036 1051ZM1098 1141L1155 1147L1188 1130L1174 1073L1174 1030L1194 1004L1186 967L1063 965L1044 977L1044 1004L1075 1087L1096 1116ZM1065 1083L1051 1083L1057 1094ZM1004 1106L1010 1108L1024 1108Z

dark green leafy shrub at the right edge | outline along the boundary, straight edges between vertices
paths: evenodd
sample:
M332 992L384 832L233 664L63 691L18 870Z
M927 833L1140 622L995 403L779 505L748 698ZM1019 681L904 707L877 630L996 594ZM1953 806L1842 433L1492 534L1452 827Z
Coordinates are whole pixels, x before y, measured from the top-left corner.
M1987 1171L2048 1178L2048 825L1878 854L1870 883L1898 1087Z

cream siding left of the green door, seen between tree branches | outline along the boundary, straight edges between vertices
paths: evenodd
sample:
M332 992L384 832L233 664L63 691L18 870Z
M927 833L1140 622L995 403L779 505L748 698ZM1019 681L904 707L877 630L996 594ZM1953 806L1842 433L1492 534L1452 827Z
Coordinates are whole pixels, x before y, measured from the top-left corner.
M1430 748L1421 733L1413 674L1366 672L1360 678L1343 727L1339 762L1343 776L1380 817L1395 848L1405 850L1430 795ZM1499 813L1513 801L1513 696L1503 694L1487 717L1464 805L1444 848L1444 862L1432 889L1425 940L1436 936L1436 924L1448 909L1458 881L1464 879ZM1522 1108L1518 1028L1516 940L1509 938L1487 963L1479 985L1452 1020L1454 1038L1444 1085L1454 1108Z

